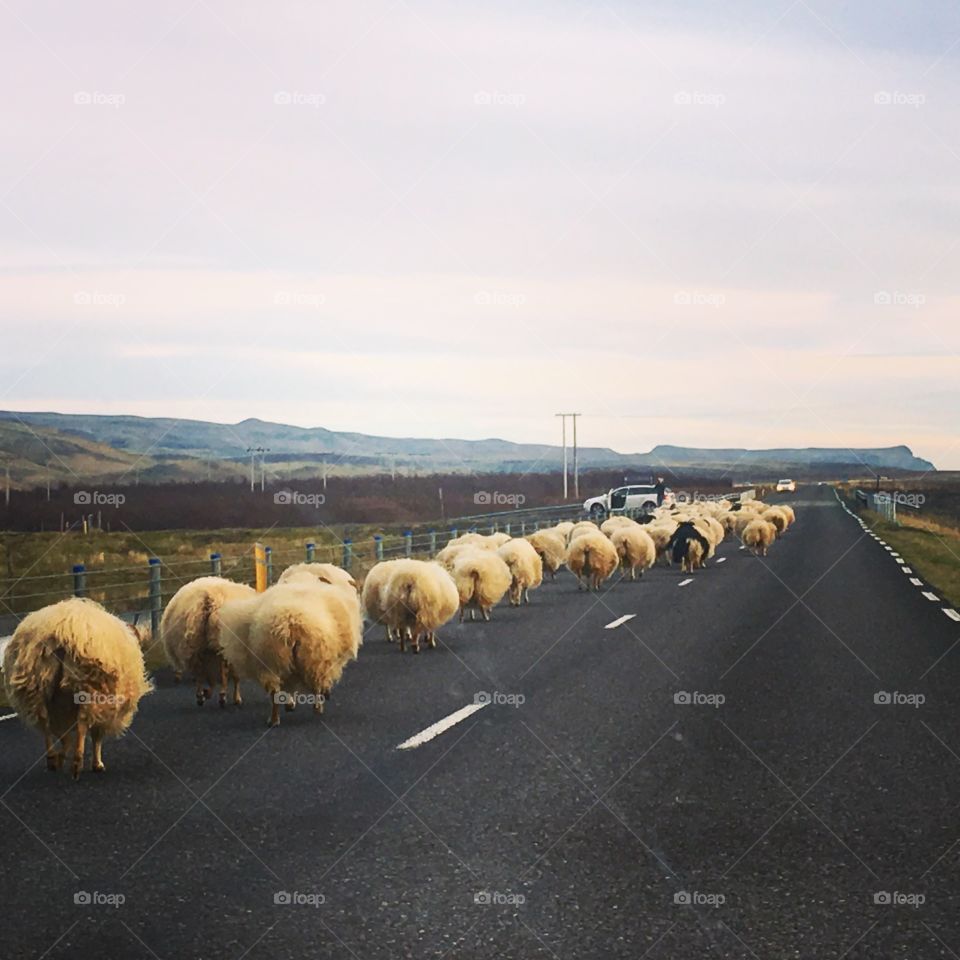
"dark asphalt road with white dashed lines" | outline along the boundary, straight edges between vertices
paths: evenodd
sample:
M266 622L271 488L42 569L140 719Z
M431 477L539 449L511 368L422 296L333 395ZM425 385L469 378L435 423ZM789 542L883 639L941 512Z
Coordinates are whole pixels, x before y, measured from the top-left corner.
M161 674L77 784L0 723L0 956L960 955L960 623L791 502L685 586L563 575L419 657L372 628L322 719Z

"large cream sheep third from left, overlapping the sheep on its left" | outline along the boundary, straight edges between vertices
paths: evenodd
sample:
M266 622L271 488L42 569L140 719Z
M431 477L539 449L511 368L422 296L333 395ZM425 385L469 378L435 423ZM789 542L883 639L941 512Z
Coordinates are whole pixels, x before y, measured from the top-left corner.
M224 656L267 691L272 727L280 723L280 704L293 710L301 695L323 713L363 642L356 590L313 577L292 577L253 599L225 603L220 616Z

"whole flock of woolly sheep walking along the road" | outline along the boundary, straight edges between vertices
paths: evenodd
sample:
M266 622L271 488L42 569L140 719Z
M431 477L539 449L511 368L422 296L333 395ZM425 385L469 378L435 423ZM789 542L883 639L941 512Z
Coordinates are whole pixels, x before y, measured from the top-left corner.
M578 589L597 590L616 570L635 580L660 560L683 571L706 566L728 533L766 556L793 522L788 506L729 501L658 508L639 521L614 516L564 522L527 537L468 533L451 540L430 561L403 558L374 566L362 585L333 564L289 567L263 593L221 577L201 577L171 598L161 621L161 641L178 679L196 681L202 706L219 686L220 706L233 685L255 681L270 697L268 723L280 722L280 707L324 703L355 660L364 617L382 625L389 642L415 653L435 647L437 630L459 611L461 622L490 611L505 597L514 606L561 566ZM146 675L142 631L91 600L71 598L29 614L4 654L10 701L27 724L42 731L47 767L63 766L73 754L73 776L83 768L89 734L92 769L105 769L106 736L130 725L140 698L152 689Z

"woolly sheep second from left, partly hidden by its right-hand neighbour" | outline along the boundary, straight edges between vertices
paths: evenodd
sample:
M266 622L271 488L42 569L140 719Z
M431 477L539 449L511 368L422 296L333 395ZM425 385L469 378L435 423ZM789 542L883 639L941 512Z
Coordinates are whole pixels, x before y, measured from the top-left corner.
M223 577L200 577L185 583L170 599L160 621L160 639L175 671L196 681L197 706L220 685L219 703L227 703L227 679L233 681L233 702L239 706L240 681L220 651L220 608L228 600L254 595L252 587Z

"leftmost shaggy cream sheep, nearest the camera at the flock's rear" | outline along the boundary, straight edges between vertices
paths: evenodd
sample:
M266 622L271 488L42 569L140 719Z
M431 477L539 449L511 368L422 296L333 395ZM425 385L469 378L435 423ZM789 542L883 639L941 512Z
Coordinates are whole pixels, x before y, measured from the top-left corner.
M4 651L3 675L20 719L43 733L47 769L59 770L72 746L74 780L87 734L92 769L102 773L103 738L120 736L153 689L130 627L76 597L24 617Z

